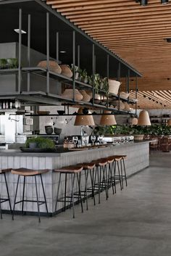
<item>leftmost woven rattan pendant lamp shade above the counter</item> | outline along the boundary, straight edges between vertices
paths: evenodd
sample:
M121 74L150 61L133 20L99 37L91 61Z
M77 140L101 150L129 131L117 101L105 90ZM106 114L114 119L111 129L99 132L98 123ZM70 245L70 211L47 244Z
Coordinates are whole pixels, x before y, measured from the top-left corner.
M83 114L82 108L78 110L78 114L80 115L77 115L75 117L74 125L91 125L91 126L95 125L92 115L81 115ZM88 112L88 114L91 114L91 112Z

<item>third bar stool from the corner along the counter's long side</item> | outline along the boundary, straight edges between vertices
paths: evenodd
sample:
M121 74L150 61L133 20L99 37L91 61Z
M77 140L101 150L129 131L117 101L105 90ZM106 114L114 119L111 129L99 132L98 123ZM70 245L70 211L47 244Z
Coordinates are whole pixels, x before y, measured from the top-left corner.
M106 199L108 199L108 185L107 185L107 159L98 159L92 161L96 165L96 172L94 178L94 191L98 191L99 194L99 204L100 204L100 193L101 191L105 190L106 192ZM101 175L102 173L102 175ZM97 176L97 182L96 182ZM101 178L102 177L102 178ZM97 189L96 189L97 188Z

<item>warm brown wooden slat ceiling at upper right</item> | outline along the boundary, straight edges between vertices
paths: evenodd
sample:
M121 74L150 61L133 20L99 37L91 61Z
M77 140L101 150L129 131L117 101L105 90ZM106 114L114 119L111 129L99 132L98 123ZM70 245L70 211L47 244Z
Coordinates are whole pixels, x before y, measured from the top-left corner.
M135 67L140 91L171 88L171 1L149 0L46 0L89 36ZM170 105L171 107L171 105Z

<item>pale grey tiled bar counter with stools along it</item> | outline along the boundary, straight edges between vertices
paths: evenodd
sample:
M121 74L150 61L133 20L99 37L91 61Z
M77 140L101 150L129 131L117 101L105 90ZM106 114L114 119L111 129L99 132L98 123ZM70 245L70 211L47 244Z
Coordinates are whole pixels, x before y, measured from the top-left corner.
M55 153L24 153L20 150L1 150L0 151L0 168L30 168L30 169L49 169L49 173L43 174L43 184L46 193L47 204L49 212L54 214L55 199L57 195L57 186L59 174L54 173L55 168L60 168L65 165L75 165L80 162L91 162L98 158L108 157L114 154L126 154L128 160L125 161L127 175L137 173L143 168L149 166L149 141L130 142L120 144L117 146L107 146L101 149L88 149L83 151L66 151ZM9 186L9 195L12 202L14 202L14 191L17 184L17 176L12 173L7 173L7 182ZM64 182L64 181L62 181ZM41 190L40 180L38 180L38 194L39 198L43 200L43 192ZM70 189L70 187L68 188ZM128 184L129 189L129 184ZM63 194L63 187L61 186L60 194ZM1 197L6 197L6 188L4 177L0 176L0 193ZM125 191L126 193L126 191ZM29 200L36 200L36 189L33 177L28 177L25 187L25 197ZM22 199L22 177L20 177L20 186L18 189L17 201ZM3 210L9 210L8 202L2 205ZM45 205L41 205L41 212L46 212ZM62 203L59 203L58 210L62 208ZM21 205L16 205L16 210L21 209ZM37 212L37 205L33 202L25 202L25 211Z

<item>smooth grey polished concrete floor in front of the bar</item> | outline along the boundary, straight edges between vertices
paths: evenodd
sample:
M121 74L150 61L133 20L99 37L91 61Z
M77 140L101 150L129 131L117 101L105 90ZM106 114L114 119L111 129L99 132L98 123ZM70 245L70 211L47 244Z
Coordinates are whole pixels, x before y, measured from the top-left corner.
M151 156L150 167L128 187L104 194L101 204L53 218L9 215L0 220L0 256L170 256L171 154ZM85 205L84 205L85 207Z

